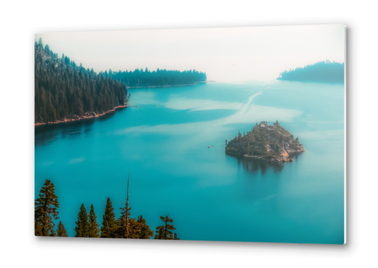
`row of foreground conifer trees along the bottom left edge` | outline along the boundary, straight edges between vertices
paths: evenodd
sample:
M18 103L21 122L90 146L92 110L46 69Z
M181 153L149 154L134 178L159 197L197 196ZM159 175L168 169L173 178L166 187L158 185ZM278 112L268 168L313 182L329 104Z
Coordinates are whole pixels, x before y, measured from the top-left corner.
M130 178L130 175L129 175ZM68 232L61 221L54 230L54 220L59 219L59 202L55 194L54 184L49 179L45 180L39 197L35 200L34 206L34 232L36 236L44 237L68 237ZM142 215L137 218L130 217L130 206L128 193L126 202L121 209L121 216L116 218L112 201L107 198L103 221L98 224L93 204L89 214L84 204L81 205L75 221L75 237L103 237L103 238L126 238L126 239L151 239L153 231L147 225ZM154 239L179 240L174 228L173 220L166 216L160 216L162 225L156 227Z

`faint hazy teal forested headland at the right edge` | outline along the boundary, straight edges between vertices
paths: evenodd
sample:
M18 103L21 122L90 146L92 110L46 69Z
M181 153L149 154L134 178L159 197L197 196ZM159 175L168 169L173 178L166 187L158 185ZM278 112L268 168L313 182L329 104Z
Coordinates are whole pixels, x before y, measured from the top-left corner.
M344 63L320 61L295 70L285 70L280 73L278 80L300 82L344 82Z

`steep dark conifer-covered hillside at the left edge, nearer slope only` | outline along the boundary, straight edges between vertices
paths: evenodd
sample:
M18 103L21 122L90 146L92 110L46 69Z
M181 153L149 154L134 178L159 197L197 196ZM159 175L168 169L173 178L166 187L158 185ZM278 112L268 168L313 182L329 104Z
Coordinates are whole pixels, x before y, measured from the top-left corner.
M124 84L35 43L35 123L91 116L128 101Z

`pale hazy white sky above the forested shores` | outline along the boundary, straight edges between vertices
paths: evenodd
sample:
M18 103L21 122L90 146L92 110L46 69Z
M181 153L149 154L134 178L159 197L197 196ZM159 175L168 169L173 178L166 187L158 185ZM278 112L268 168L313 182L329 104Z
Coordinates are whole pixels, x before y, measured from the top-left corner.
M273 80L282 70L345 61L343 24L36 34L77 65L100 70L195 69L208 80Z

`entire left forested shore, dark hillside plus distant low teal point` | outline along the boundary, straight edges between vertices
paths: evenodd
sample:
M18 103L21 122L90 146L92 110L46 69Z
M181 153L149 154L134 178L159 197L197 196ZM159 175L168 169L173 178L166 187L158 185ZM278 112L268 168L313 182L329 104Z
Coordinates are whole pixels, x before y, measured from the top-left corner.
M206 81L206 73L197 70L156 70L96 73L62 54L35 43L34 124L56 124L99 117L117 108L127 107L127 88L174 87Z

